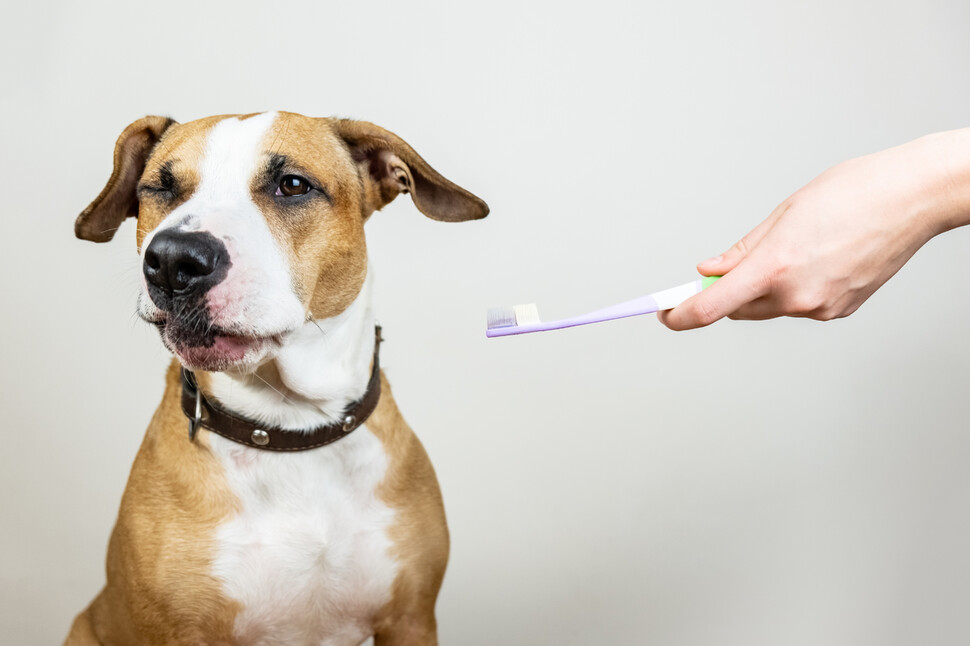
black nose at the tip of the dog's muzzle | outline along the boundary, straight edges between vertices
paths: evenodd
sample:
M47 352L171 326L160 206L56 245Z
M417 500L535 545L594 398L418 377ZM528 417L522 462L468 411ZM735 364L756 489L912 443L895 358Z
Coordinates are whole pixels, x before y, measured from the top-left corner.
M211 233L166 229L145 249L143 269L157 301L156 290L167 298L205 293L226 277L229 264L226 245Z

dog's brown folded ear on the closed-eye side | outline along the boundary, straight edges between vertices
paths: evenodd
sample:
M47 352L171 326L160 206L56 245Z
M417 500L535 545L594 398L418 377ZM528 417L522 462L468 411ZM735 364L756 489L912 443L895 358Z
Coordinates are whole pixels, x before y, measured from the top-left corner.
M115 143L114 170L108 183L74 223L77 237L107 242L125 218L138 216L138 180L155 144L173 123L167 117L143 117L125 128Z

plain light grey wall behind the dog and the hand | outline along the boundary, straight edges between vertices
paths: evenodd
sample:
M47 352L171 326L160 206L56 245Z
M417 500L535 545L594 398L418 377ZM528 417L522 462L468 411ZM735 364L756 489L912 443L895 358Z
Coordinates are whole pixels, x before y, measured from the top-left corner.
M491 216L368 224L383 362L453 538L444 644L966 644L968 231L847 320L486 340L689 280L848 157L970 125L970 5L8 3L0 641L104 580L168 357L131 221L73 238L115 138L287 109L394 130Z

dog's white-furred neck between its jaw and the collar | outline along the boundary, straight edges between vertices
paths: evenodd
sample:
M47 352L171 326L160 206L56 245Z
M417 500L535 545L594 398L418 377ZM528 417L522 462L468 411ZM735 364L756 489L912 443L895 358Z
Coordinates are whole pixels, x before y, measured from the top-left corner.
M341 419L364 395L374 354L371 278L346 310L310 320L282 339L275 357L249 373L210 373L208 393L268 426L307 430Z

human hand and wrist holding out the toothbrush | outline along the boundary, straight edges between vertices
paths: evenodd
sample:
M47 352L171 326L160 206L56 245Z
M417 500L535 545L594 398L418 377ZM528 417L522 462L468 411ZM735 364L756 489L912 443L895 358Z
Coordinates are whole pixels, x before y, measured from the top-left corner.
M930 238L966 223L968 133L924 137L822 173L699 264L701 274L724 277L658 318L687 330L725 316L848 316ZM954 145L963 154L959 168Z

